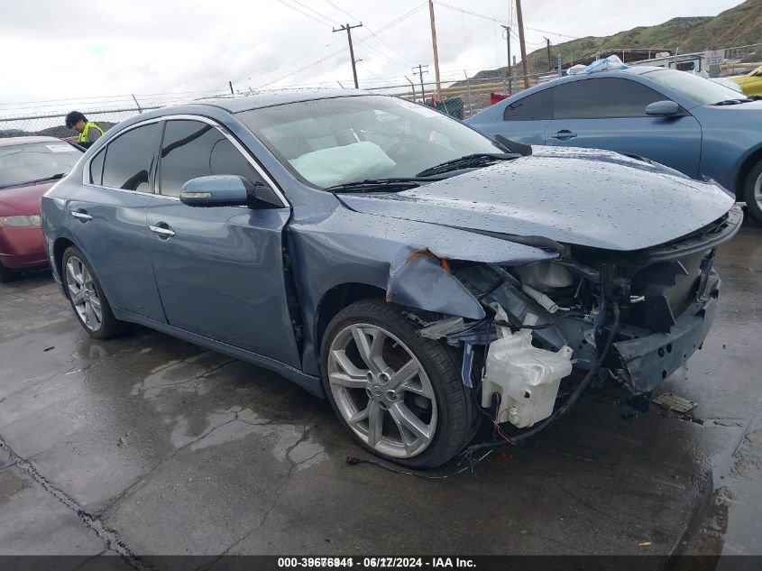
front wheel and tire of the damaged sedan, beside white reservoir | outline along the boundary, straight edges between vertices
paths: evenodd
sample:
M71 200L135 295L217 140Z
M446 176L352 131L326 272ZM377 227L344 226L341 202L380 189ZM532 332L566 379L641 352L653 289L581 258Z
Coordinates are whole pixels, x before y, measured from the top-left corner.
M434 468L473 437L478 411L457 355L416 329L393 304L355 302L326 328L321 369L336 416L360 446Z

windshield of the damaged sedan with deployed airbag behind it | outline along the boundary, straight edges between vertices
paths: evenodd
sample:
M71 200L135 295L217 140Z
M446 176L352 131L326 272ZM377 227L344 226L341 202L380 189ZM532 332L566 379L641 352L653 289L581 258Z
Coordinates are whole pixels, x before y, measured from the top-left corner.
M236 115L300 179L320 188L415 177L445 161L503 152L470 127L396 97L335 97Z

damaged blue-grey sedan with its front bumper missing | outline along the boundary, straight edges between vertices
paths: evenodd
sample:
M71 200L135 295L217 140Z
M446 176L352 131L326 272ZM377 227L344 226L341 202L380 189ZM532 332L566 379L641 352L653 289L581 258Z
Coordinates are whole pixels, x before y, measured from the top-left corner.
M742 217L651 161L493 141L353 91L133 117L41 213L91 336L136 323L270 368L410 467L484 418L519 442L593 377L652 391L702 345Z

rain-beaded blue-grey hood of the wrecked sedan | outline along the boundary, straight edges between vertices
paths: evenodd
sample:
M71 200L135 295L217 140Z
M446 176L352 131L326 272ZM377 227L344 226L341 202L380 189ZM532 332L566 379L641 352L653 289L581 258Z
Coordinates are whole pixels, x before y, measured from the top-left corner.
M620 251L688 235L733 206L719 185L650 161L596 149L533 150L417 189L339 197L365 214Z

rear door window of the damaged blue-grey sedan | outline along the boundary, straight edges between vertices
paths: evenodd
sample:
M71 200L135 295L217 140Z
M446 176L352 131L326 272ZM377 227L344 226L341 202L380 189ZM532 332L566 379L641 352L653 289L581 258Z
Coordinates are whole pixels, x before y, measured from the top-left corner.
M146 124L108 143L103 165L103 186L151 192L151 168L158 134L158 123Z

